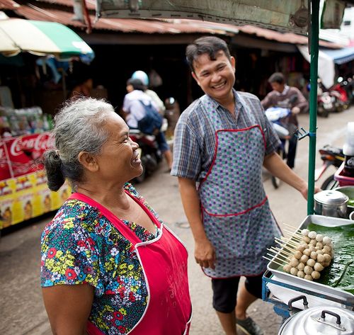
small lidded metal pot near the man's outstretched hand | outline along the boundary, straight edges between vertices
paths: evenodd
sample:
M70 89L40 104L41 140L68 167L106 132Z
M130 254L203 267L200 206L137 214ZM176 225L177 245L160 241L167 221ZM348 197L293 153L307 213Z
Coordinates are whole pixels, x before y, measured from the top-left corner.
M348 195L326 190L314 195L314 212L318 215L347 218Z

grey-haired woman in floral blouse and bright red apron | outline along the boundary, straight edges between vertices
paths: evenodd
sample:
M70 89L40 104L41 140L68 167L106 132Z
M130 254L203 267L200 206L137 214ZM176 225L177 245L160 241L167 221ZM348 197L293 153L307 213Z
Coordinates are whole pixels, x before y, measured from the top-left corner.
M138 145L104 101L55 117L48 186L74 193L42 234L42 294L54 334L188 334L187 251L127 181Z

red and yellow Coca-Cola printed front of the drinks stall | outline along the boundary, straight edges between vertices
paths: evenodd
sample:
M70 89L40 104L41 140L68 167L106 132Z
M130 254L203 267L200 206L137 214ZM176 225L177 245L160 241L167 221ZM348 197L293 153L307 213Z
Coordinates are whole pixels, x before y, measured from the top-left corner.
M47 188L42 154L52 147L51 132L8 137L0 141L0 228L56 210L69 196Z

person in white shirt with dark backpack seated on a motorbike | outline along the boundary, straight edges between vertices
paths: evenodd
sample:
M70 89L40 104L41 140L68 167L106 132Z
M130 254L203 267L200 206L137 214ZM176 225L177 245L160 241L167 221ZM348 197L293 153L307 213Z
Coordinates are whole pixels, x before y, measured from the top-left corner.
M147 106L151 103L156 110L158 106L154 100L144 92L144 84L142 84L140 79L128 79L127 92L124 97L122 111L125 114L127 125L132 129L138 129L138 122L144 118L146 113L143 105ZM164 132L159 131L155 137L159 149L162 154L164 154L169 167L168 171L170 172L172 167L172 152L169 144L166 142Z

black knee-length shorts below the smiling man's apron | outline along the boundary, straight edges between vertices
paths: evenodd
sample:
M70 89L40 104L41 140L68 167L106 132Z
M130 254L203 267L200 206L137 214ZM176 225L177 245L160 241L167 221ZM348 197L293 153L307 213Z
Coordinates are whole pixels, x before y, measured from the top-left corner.
M245 276L246 290L258 298L262 297L262 277ZM231 313L236 307L237 291L239 289L240 277L232 278L212 278L212 307L217 312Z

